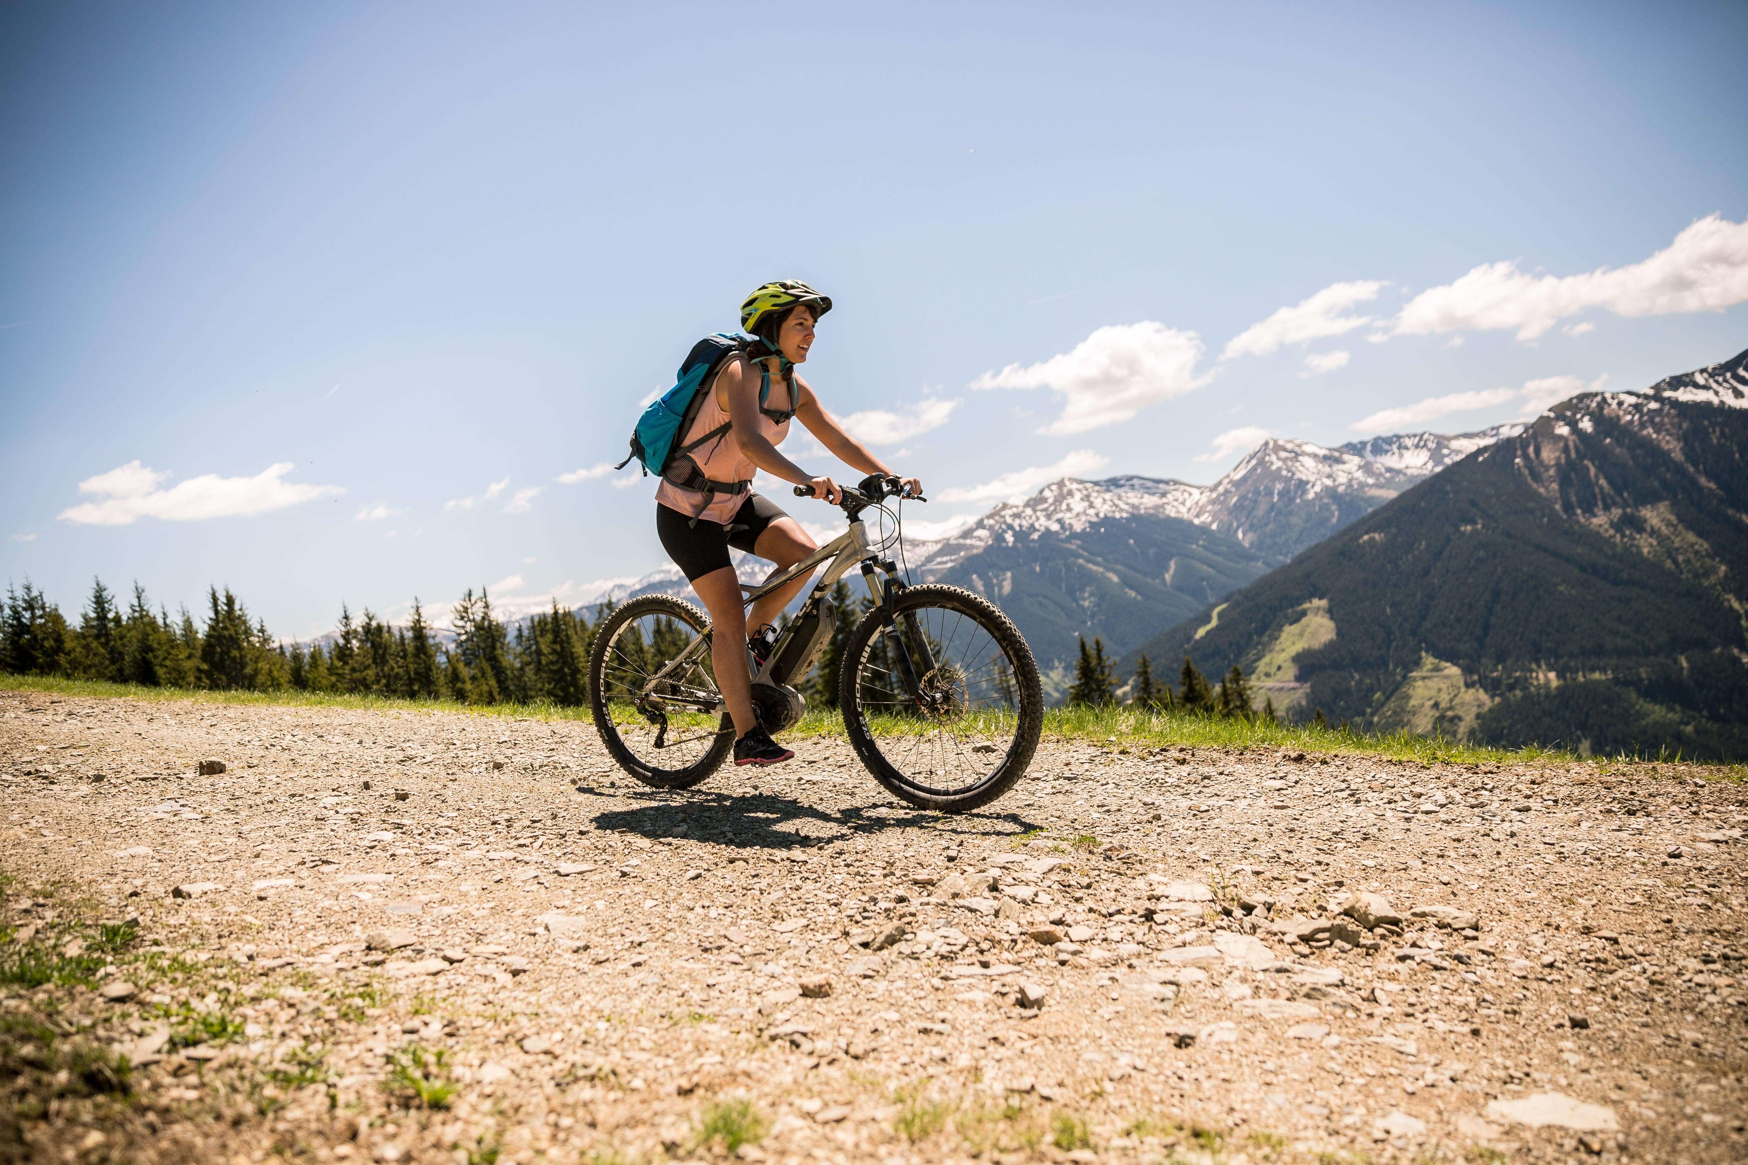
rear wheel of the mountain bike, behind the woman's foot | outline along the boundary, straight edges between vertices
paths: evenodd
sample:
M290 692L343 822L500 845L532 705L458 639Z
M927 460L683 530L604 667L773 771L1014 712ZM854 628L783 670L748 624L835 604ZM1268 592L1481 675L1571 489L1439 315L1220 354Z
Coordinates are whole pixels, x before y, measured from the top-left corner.
M694 643L704 643L669 667ZM689 789L734 748L724 732L710 662L710 618L690 603L649 594L615 608L594 629L589 709L601 742L643 784Z

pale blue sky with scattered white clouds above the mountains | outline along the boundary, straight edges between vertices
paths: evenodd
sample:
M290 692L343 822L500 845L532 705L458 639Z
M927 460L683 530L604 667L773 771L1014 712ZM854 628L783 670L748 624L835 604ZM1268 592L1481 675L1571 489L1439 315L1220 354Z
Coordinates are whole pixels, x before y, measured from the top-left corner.
M932 520L1643 388L1748 348L1743 44L1727 3L7 5L0 573L288 636L582 597L662 562L650 482L587 472L771 278L836 299L808 376Z

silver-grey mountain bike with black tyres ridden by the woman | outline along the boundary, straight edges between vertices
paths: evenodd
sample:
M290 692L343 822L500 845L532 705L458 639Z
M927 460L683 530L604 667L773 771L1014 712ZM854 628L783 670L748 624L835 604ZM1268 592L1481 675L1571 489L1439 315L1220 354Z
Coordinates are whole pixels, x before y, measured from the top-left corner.
M801 498L811 489L795 487ZM832 587L860 566L869 606L837 660L837 706L850 746L895 796L919 809L967 810L1014 786L1038 748L1044 690L1019 629L981 594L937 583L909 585L869 538L862 515L902 498L898 479L871 475L843 489L850 527L743 601L825 573L785 624L760 665L732 645L752 672L753 707L767 732L806 713L801 683L832 639ZM926 501L926 498L911 498ZM900 543L902 547L902 543ZM710 618L685 599L642 596L607 613L589 651L589 702L607 751L633 777L689 789L734 748L734 727L717 692Z

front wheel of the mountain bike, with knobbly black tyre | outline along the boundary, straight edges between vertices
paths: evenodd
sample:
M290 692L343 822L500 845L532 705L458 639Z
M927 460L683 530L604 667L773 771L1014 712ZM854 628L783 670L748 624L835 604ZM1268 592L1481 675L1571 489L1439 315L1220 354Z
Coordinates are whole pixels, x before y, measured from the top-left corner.
M844 646L839 707L874 779L918 809L988 805L1031 763L1044 690L1031 648L993 603L905 587Z

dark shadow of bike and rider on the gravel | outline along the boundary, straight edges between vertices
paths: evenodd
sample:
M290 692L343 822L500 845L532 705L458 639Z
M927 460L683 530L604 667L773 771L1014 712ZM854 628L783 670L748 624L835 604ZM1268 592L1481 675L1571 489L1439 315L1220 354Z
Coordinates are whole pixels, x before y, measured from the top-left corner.
M596 793L587 786L579 791ZM933 837L967 840L1017 837L1042 828L1016 810L939 814L893 810L888 802L834 810L771 791L640 789L633 796L642 796L643 803L601 810L593 816L594 828L650 840L683 837L731 849L811 849L890 830L928 830ZM898 816L888 816L893 812Z

